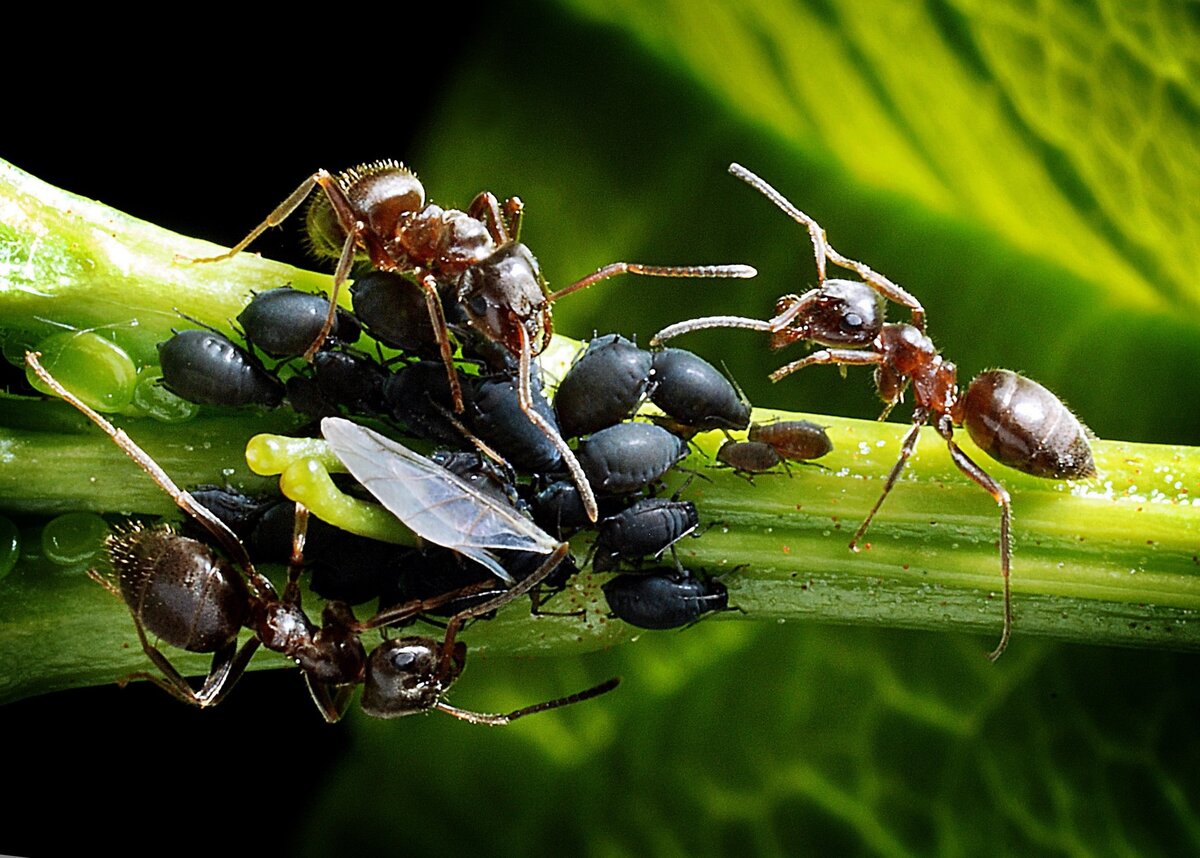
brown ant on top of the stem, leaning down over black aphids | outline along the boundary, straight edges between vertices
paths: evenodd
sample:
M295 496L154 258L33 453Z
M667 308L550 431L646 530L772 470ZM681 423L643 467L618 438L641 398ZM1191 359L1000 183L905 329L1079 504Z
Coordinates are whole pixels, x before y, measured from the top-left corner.
M332 328L337 292L349 276L356 254L380 271L407 275L425 294L442 362L446 368L455 412L463 412L462 388L454 366L444 300L466 314L467 324L487 342L498 343L518 359L517 390L521 410L562 452L583 497L590 521L596 520L595 496L566 442L533 408L529 366L550 343L551 305L618 274L653 277L752 277L748 265L659 266L612 263L557 292L546 292L538 260L518 241L523 204L510 197L502 206L484 191L467 211L425 203L425 188L412 170L395 161L377 161L337 175L319 169L305 179L251 233L221 256L196 259L217 262L242 251L269 227L278 226L319 187L307 210L313 250L336 257L334 294L329 316L305 353L320 348Z

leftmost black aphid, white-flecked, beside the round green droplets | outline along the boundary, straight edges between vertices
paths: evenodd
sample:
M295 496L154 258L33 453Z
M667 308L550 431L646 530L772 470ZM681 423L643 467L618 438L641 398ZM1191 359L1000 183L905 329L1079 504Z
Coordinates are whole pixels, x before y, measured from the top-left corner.
M163 385L202 406L262 406L283 401L283 383L250 352L208 330L179 331L158 343Z

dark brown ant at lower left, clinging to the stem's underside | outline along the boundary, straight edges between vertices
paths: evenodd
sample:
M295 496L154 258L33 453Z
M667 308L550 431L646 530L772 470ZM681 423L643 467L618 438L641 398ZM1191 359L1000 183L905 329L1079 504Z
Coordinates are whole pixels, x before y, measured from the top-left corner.
M565 542L528 578L481 605L456 613L446 624L442 641L390 638L368 656L359 637L361 632L382 629L468 595L476 587L397 605L361 623L346 602L329 601L322 624L317 626L300 605L299 578L308 521L306 508L296 504L292 560L287 584L280 596L275 586L254 568L246 547L224 522L175 485L122 430L66 390L42 367L38 358L36 353L25 353L25 362L38 378L103 430L184 512L216 539L233 562L232 565L204 542L181 536L169 527L132 526L109 538L115 580L107 580L96 572L91 572L91 577L128 606L142 649L161 672L161 676L134 673L122 683L144 678L185 703L200 708L215 706L226 697L245 672L251 656L263 646L296 662L313 702L328 722L341 719L350 694L361 684L361 706L368 715L398 718L440 709L461 720L486 725L509 724L526 715L595 697L617 686L619 680L610 679L592 689L504 715L469 712L442 700L466 662L466 644L456 641L462 625L533 589L566 556ZM234 565L240 568L240 572ZM252 636L239 647L238 632L244 626L251 630ZM167 656L150 643L146 632L182 649L214 654L212 665L199 689L192 688Z

